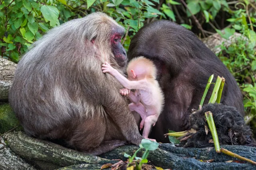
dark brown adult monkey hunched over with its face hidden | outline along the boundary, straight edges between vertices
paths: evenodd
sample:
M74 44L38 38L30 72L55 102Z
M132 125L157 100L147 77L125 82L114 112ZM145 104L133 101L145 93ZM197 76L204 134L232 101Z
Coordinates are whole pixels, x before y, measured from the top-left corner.
M221 103L238 108L244 115L243 97L226 66L188 29L167 20L144 25L131 40L128 59L144 56L157 68L157 80L164 92L165 105L149 138L168 143L168 129L189 128L188 116L198 109L208 78L214 74L226 79ZM204 104L212 93L208 91ZM136 115L135 115L136 116ZM136 117L136 119L140 119Z

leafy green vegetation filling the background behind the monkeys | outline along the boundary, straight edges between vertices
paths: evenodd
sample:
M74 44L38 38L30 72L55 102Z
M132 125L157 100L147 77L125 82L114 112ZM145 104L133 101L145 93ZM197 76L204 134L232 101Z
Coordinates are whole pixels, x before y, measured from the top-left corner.
M220 45L217 56L240 86L245 121L256 137L256 0L0 0L0 55L18 63L28 47L52 27L96 11L125 27L122 44L126 50L140 27L159 19L174 21L199 38L217 32L228 39L241 33L230 47Z

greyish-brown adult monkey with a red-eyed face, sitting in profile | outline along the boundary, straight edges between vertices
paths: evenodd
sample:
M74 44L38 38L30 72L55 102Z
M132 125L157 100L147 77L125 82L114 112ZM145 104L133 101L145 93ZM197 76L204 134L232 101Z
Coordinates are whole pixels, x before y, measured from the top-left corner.
M103 74L105 61L123 74L124 28L92 13L51 29L18 63L9 101L24 131L41 139L64 139L70 147L99 155L140 135L122 86Z

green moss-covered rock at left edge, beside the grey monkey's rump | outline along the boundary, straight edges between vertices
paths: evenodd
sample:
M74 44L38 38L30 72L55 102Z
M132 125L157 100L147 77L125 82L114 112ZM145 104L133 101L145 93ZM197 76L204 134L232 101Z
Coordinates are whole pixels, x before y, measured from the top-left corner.
M18 126L18 127L16 127ZM15 113L12 111L12 108L9 104L0 105L0 133L4 134L7 131L15 128L15 131L21 131L22 127L19 124L18 119L15 116Z

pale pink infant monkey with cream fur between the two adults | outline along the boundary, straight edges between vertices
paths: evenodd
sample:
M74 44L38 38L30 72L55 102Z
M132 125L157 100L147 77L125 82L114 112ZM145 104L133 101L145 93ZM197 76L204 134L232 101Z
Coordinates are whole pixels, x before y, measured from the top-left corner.
M151 125L156 124L164 106L164 94L156 80L154 63L145 57L132 59L127 66L128 79L107 62L102 64L102 70L104 73L109 72L124 86L120 93L127 95L132 102L129 104L130 111L140 114L140 130L144 126L142 136L148 139ZM135 92L130 91L131 89L135 89Z

